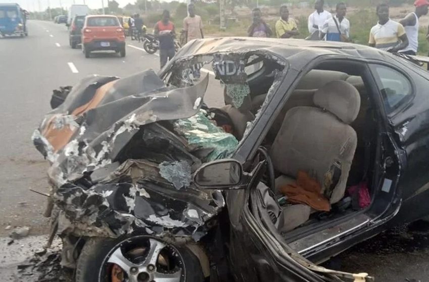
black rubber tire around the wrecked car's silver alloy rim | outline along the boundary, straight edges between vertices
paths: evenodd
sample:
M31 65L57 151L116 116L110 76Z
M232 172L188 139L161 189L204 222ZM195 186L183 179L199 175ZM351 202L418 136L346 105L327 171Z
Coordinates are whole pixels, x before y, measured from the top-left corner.
M118 239L89 238L77 260L76 282L104 282L98 280L100 268L105 257L118 243ZM186 247L177 249L185 264L186 278L182 282L203 282L204 275L198 258Z

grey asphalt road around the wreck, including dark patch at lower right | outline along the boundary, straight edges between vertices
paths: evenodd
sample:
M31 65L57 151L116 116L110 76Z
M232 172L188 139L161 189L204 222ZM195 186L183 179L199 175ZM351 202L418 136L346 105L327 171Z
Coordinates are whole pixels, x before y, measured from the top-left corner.
M52 90L91 74L125 77L159 69L159 57L147 54L135 41L127 42L125 58L99 53L86 59L69 46L64 25L29 21L28 27L27 38L0 38L0 273L13 272L28 248L38 249L45 240L37 236L9 245L10 239L2 238L10 233L9 226L28 226L30 235L48 230L42 217L45 198L29 188L47 192L47 163L34 149L31 134L50 110ZM223 104L222 88L211 75L205 102ZM376 281L428 281L428 238L427 225L403 226L353 247L326 266L368 272Z

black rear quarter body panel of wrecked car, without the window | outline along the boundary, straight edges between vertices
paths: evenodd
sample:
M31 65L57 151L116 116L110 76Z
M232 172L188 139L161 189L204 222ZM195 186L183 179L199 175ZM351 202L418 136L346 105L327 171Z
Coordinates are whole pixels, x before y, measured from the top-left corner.
M402 208L396 218L402 222L429 215L429 80L414 71L408 74L415 84L415 96L391 117L407 160L399 182Z

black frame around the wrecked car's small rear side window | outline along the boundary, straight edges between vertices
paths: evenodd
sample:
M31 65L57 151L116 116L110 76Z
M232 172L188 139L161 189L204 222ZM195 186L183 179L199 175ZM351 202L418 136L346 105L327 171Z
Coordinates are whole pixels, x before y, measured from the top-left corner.
M402 75L406 80L408 80L408 82L411 86L411 93L408 95L405 95L404 98L402 98L393 107L391 107L389 105L389 102L386 101L387 98L384 97L384 95L381 91L382 86L383 86L383 82L381 81L380 75L377 72L376 66L382 66L382 67L387 67L389 69L392 69L393 71ZM402 69L395 66L394 64L386 63L385 61L370 61L370 62L368 62L368 67L369 67L369 70L371 72L371 75L372 75L374 81L377 84L377 92L379 93L382 101L384 102L383 107L384 107L385 113L388 117L393 117L396 114L398 114L399 112L401 112L401 110L406 108L410 104L410 102L414 99L415 89L416 89L415 83L414 83L413 79L411 78L411 76L408 75L406 72L404 72Z

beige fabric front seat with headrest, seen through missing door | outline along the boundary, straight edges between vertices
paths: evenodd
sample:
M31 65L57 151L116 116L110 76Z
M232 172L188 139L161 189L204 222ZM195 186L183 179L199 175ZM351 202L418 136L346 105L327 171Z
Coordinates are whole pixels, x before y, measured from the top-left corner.
M283 180L290 181L299 170L305 171L330 195L330 202L336 203L344 197L356 149L356 132L349 124L359 112L360 96L351 84L333 81L316 91L313 103L314 107L295 107L286 113L271 156ZM341 169L340 179L328 191L327 179L335 163Z

